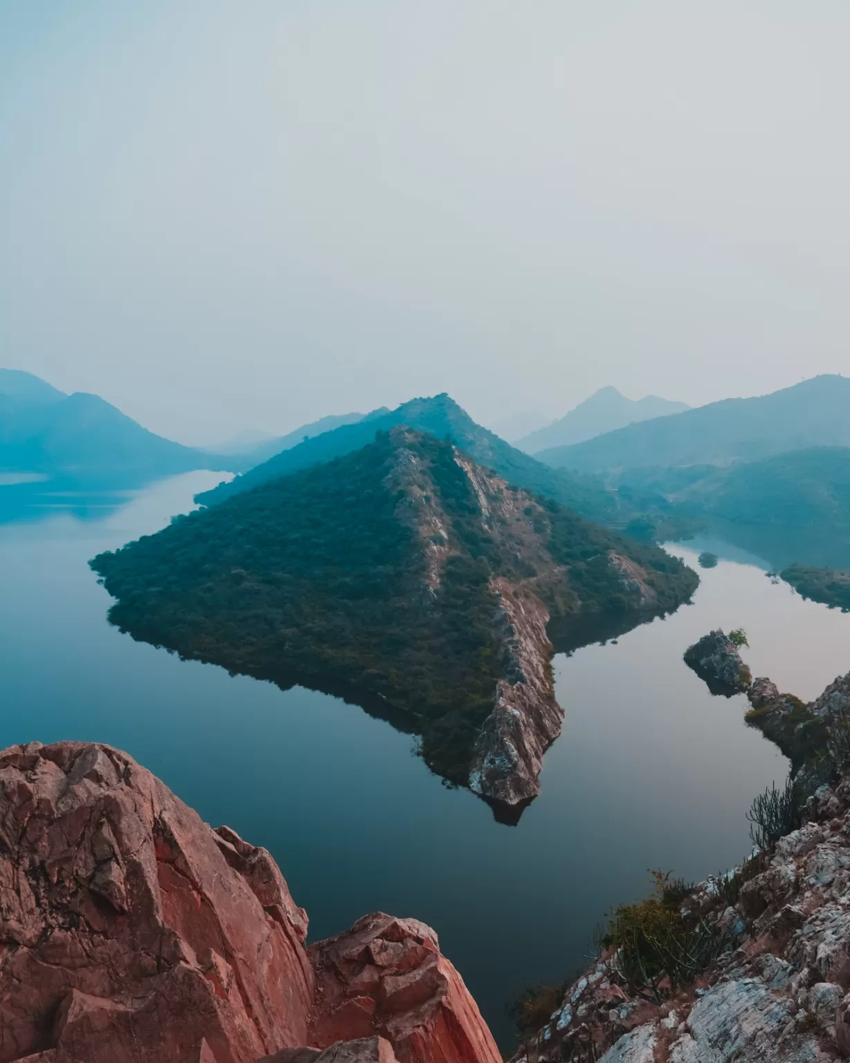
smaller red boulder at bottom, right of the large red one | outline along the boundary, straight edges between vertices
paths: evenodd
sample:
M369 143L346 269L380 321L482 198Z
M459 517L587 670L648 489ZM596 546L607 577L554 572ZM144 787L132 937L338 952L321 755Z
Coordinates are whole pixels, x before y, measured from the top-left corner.
M501 1056L434 931L378 912L311 946L316 1007L311 1042L376 1031L399 1063L500 1063Z

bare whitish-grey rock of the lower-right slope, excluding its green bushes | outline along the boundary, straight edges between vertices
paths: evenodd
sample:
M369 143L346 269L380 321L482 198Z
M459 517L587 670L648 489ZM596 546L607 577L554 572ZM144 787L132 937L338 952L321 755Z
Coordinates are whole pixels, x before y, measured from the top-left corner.
M567 990L515 1063L833 1063L850 1058L850 776L810 799L728 904L709 879L683 913L723 943L694 984L661 1003L605 955Z

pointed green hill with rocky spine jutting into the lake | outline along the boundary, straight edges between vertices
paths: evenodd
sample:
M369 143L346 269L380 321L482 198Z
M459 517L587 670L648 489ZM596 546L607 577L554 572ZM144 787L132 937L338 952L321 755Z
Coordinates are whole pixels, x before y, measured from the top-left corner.
M90 563L134 638L348 696L502 810L539 792L561 729L550 618L622 629L698 583L404 425Z

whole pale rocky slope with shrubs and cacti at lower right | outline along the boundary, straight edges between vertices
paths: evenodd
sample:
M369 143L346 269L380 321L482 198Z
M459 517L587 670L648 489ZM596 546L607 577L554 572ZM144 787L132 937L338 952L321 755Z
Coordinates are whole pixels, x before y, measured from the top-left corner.
M767 679L750 694L793 711ZM519 1010L515 1063L850 1057L850 673L806 712L822 727L819 752L753 803L753 853L697 885L655 873L654 894L613 913L598 958L545 1025L533 1019L551 991Z

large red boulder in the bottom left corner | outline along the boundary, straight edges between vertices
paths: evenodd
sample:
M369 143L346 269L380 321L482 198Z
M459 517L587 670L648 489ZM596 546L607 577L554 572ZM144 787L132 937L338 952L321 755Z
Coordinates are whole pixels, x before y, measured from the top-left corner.
M303 913L222 844L109 746L0 754L0 1063L254 1063L303 1044Z

